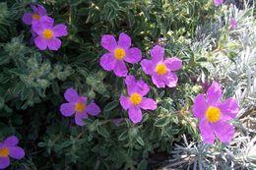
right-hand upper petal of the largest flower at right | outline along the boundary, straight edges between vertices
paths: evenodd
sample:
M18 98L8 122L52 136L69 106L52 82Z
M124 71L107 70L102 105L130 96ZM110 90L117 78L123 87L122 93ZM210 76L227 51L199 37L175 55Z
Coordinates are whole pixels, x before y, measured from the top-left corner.
M234 119L239 111L239 106L235 98L227 98L218 106L221 109L222 120Z

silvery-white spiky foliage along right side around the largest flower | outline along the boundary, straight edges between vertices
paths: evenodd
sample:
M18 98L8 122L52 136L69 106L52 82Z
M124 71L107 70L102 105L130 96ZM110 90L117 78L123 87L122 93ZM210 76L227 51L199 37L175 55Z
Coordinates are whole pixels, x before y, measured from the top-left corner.
M254 5L254 4L253 4ZM256 22L253 8L222 6L218 22L197 29L198 39L191 44L195 56L206 57L211 80L224 88L224 97L234 96L240 111L231 123L236 128L232 142L213 145L204 142L175 144L171 158L162 169L255 169L256 168ZM231 18L236 28L229 28ZM218 46L216 48L216 46ZM215 49L216 48L216 49ZM207 82L204 73L199 79Z

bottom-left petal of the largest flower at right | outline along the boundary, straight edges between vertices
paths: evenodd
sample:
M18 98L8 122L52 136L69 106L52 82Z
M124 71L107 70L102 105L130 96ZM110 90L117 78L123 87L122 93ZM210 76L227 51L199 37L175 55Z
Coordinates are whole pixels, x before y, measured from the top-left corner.
M214 131L212 130L212 127L205 119L201 119L199 123L199 130L201 132L203 142L206 142L208 144L212 144L215 142Z

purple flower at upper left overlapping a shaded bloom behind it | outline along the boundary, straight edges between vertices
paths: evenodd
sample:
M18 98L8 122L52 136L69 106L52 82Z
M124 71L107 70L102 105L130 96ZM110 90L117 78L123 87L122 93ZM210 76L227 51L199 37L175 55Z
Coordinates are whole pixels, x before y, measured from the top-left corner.
M45 50L47 47L50 50L58 50L61 46L61 40L58 37L68 34L64 24L53 25L54 20L47 16L41 17L40 22L32 25L32 30L37 34L34 43L40 50Z

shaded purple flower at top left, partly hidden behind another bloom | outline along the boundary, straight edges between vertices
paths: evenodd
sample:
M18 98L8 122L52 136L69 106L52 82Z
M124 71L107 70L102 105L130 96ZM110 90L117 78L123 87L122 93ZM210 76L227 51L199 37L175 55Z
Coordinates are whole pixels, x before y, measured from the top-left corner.
M47 12L45 8L41 5L35 4L31 5L32 7L32 13L25 13L23 16L23 22L26 25L33 25L40 21L42 16L46 16Z

